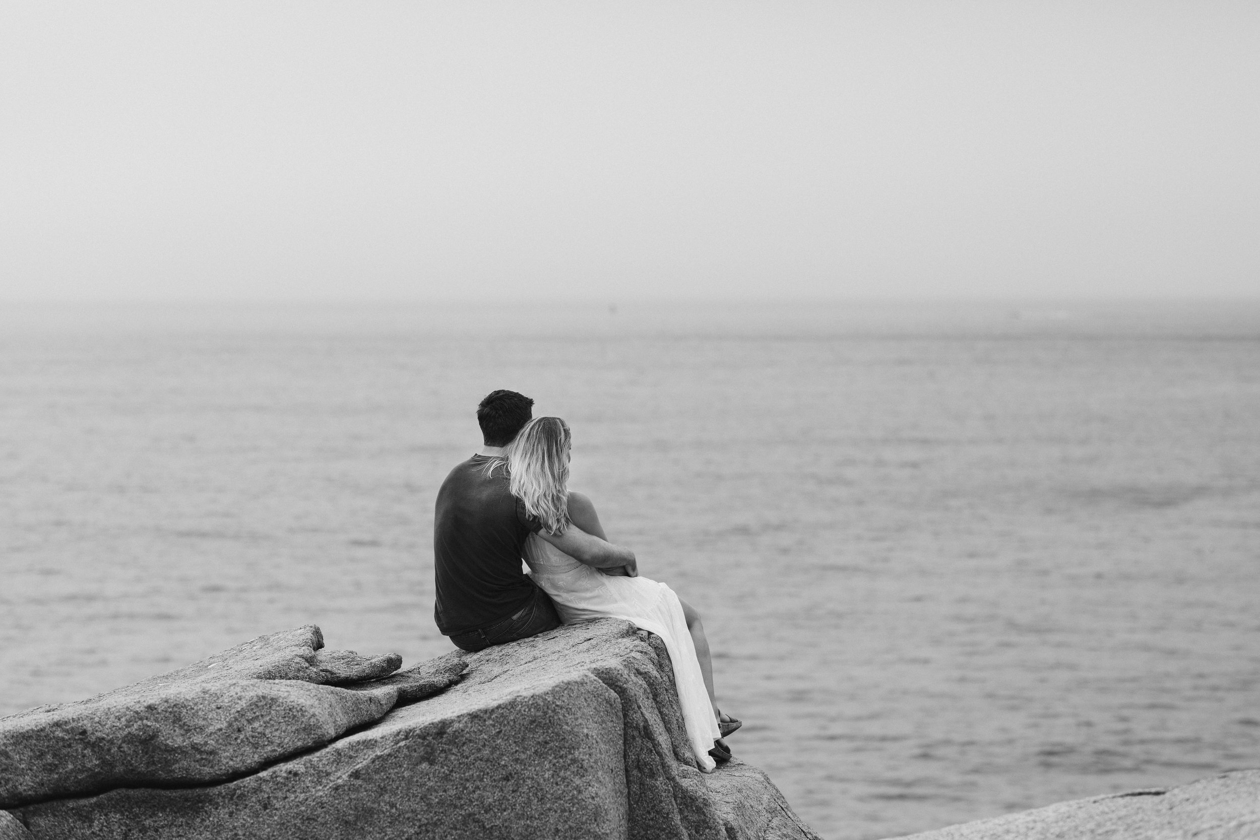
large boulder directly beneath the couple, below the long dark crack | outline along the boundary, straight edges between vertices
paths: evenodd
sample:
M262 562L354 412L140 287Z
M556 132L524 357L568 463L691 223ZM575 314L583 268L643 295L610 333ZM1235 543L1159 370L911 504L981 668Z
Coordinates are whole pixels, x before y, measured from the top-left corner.
M47 840L816 837L760 771L696 768L664 646L627 622L451 654L427 673L455 661L467 670L445 693L256 773L15 814Z

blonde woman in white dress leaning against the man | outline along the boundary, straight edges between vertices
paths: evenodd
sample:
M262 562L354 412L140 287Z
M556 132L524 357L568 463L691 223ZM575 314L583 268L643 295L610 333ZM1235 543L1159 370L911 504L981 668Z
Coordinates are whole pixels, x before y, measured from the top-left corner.
M566 486L570 446L568 426L561 418L529 421L507 452L512 495L549 534L563 533L572 524L606 540L591 500L570 492ZM534 582L551 596L566 625L591 618L625 618L660 636L674 667L683 723L701 769L712 772L714 758L730 759L730 748L722 738L738 729L740 722L723 715L713 701L708 640L690 604L664 583L638 577L635 568L600 570L583 565L538 534L525 542L524 559Z

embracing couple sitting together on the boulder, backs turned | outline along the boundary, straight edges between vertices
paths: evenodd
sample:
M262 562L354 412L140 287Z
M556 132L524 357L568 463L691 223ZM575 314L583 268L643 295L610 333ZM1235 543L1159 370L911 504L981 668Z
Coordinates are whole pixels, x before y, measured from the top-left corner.
M483 399L476 418L485 446L437 491L437 628L466 651L604 617L656 633L669 651L692 749L701 769L712 771L730 759L723 738L740 722L713 701L701 617L664 583L639 577L634 552L607 542L595 505L567 487L568 426L558 417L533 419L533 404L513 390Z

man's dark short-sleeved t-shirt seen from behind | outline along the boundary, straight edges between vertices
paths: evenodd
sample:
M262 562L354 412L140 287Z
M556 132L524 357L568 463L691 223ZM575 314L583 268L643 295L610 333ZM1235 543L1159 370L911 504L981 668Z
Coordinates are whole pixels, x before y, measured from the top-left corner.
M433 513L433 618L446 636L510 617L534 597L520 572L525 539L537 519L508 491L507 467L486 475L491 458L474 455L446 476Z

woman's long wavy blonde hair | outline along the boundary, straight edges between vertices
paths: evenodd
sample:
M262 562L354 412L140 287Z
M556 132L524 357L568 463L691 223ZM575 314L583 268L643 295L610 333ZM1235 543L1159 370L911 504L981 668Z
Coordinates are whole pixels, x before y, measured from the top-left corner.
M558 417L525 423L508 448L508 490L548 534L568 528L568 453L572 436Z

